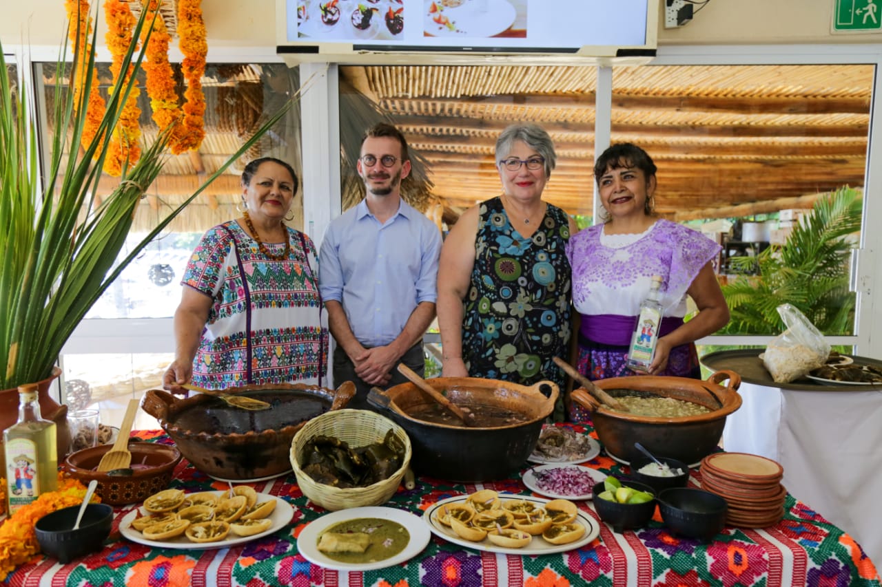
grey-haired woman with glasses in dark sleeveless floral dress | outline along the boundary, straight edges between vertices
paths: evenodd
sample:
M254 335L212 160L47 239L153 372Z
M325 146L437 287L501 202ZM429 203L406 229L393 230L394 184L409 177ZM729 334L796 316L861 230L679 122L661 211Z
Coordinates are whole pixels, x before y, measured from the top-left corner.
M551 359L566 356L572 330L564 244L575 223L542 201L554 145L539 126L513 124L496 160L502 195L463 212L441 249L443 374L563 384Z

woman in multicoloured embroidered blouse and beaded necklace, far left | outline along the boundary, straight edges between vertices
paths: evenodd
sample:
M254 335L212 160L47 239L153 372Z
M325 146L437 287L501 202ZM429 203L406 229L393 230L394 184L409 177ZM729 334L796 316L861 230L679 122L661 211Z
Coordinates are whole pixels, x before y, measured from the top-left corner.
M184 272L166 389L325 380L316 248L282 223L297 185L281 160L253 160L243 170L242 218L210 229Z

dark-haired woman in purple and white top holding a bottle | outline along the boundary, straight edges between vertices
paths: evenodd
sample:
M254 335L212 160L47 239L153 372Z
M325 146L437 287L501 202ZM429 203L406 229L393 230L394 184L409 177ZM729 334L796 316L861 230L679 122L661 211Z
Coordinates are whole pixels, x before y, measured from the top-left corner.
M625 360L654 275L662 276L664 315L650 375L700 377L694 341L729 322L711 264L721 247L654 217L655 172L638 146L610 146L594 165L605 221L574 234L566 246L580 316L578 368L589 379L635 375ZM687 295L699 312L684 322ZM590 420L575 404L570 416Z

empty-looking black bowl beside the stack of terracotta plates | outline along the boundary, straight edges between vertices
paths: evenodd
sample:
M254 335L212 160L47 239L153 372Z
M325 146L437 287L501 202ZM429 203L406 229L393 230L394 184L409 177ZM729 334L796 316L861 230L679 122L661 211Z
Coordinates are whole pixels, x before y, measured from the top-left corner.
M691 487L665 489L658 495L662 521L680 536L707 542L726 525L726 500Z

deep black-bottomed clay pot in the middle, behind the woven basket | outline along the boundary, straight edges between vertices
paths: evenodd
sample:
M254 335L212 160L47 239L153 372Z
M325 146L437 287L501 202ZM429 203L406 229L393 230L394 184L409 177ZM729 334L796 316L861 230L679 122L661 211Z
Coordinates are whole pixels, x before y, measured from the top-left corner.
M504 479L517 471L533 452L542 422L554 411L559 393L557 385L551 382L525 386L475 377L436 377L426 381L460 407L497 407L523 416L519 422L497 427L428 422L411 415L435 403L415 384L401 383L385 392L371 390L371 404L384 409L407 431L413 448L410 465L415 472L467 483Z

